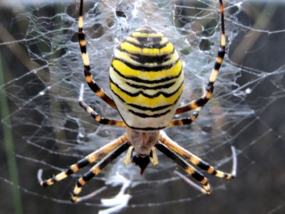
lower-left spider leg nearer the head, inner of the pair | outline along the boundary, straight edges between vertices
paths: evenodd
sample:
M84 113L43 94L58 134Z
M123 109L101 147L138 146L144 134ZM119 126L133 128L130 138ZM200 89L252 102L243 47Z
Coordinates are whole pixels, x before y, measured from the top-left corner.
M105 156L100 162L98 162L96 165L94 165L86 174L84 174L81 178L78 179L76 183L76 187L73 190L73 193L71 195L71 201L73 203L81 201L81 198L78 198L78 194L81 193L81 190L83 188L83 185L88 182L91 178L93 178L95 175L98 175L100 171L108 165L111 161L115 160L115 158L118 158L121 153L126 151L130 145L128 143L123 143L120 145L115 151L112 151L108 154L108 156Z

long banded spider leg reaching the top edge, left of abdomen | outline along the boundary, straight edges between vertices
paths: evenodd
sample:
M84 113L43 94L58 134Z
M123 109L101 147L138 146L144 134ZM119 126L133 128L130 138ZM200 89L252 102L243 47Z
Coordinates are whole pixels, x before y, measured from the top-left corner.
M88 58L88 53L86 51L86 40L85 40L85 34L83 32L83 0L81 0L80 9L79 9L79 21L78 21L78 40L79 45L81 48L81 56L83 59L84 64L84 75L86 79L86 83L88 83L88 86L90 89L103 101L108 103L109 106L117 109L117 106L115 105L114 101L110 96L108 96L105 91L103 91L100 86L93 80L92 74L90 72L90 61Z

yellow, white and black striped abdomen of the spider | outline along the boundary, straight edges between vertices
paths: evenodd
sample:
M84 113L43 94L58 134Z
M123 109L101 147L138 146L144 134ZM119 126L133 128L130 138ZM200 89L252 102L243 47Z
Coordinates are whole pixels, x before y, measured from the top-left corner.
M167 126L183 90L182 63L174 46L150 26L134 31L115 49L110 89L130 128Z

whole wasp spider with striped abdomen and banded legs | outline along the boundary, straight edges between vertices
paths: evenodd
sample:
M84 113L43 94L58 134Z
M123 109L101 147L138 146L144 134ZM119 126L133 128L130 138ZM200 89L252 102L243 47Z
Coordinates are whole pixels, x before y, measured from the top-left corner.
M168 138L162 128L182 126L195 121L201 108L209 101L214 89L219 68L225 54L226 39L224 36L224 9L222 0L219 0L221 14L222 37L217 61L209 77L204 96L185 106L177 107L183 90L183 71L179 55L173 45L156 29L151 26L141 26L128 36L115 49L110 65L110 89L112 96L108 96L95 82L90 73L90 63L86 51L85 34L83 33L83 0L79 11L78 39L84 64L84 74L90 89L103 101L120 113L123 121L102 118L83 101L83 87L79 105L84 108L98 123L109 126L121 126L126 129L123 136L106 144L88 156L71 165L68 169L47 180L41 180L41 185L53 185L63 180L80 168L94 163L104 156L98 163L78 179L71 195L73 202L81 201L78 197L83 185L100 173L108 163L127 151L125 164L139 165L141 173L148 163L158 163L156 150L180 165L187 174L201 183L200 190L210 194L207 178L199 173L190 163L197 165L207 173L219 178L232 179L235 176L235 167L232 173L224 173L202 161L199 157L185 150ZM188 118L172 120L172 117L194 111ZM235 158L233 158L235 160ZM190 163L188 163L188 161ZM233 161L235 162L235 161ZM235 164L234 164L235 165Z

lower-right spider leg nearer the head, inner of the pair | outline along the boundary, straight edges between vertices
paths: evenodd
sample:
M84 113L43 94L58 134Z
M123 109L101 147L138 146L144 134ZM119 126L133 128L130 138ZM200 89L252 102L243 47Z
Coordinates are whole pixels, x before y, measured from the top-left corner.
M209 195L211 194L211 188L209 186L207 178L204 177L201 173L199 173L197 170L195 170L192 165L184 161L180 156L178 156L174 151L171 150L171 148L167 148L165 144L163 143L157 143L155 144L155 147L165 154L168 158L172 159L172 161L175 161L178 165L180 165L189 175L191 175L193 178L198 180L202 184L203 193Z

